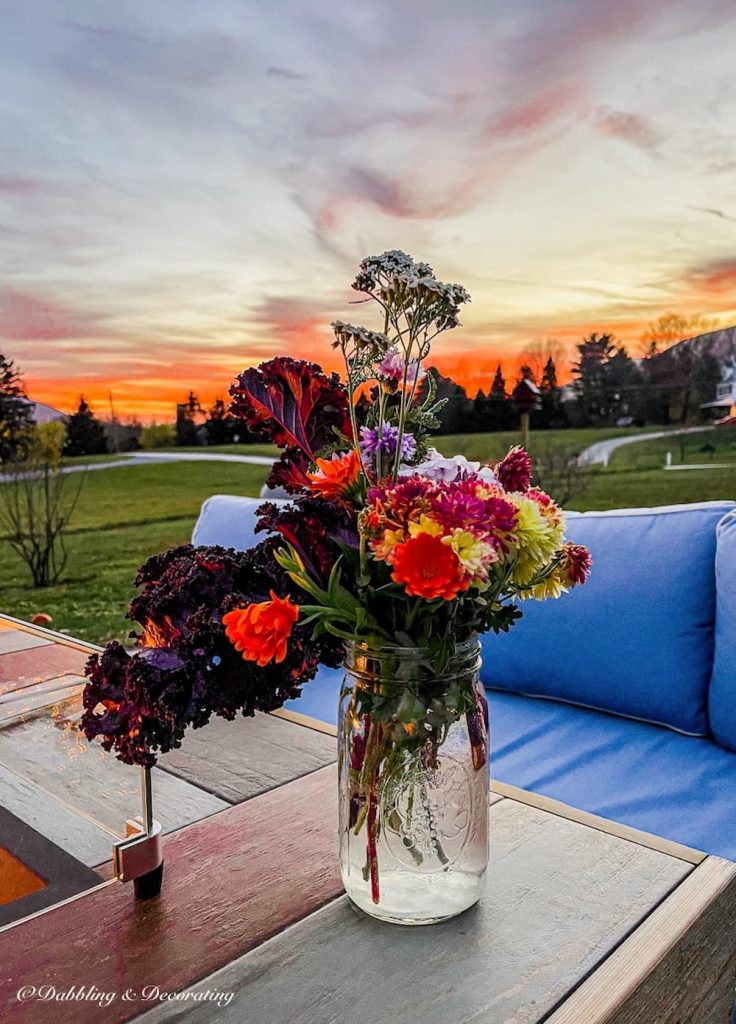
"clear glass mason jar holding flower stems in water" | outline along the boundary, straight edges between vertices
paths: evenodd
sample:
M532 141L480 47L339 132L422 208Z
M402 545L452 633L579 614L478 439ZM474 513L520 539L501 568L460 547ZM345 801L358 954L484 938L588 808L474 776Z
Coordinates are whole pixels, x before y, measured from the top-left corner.
M429 925L480 899L488 862L488 712L480 644L437 671L426 649L346 647L340 869L374 918Z

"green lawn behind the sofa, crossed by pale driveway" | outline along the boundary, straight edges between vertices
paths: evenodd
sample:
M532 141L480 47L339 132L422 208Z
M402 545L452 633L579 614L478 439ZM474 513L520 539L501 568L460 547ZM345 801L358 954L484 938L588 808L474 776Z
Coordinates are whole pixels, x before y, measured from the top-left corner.
M561 431L532 435L532 452L560 445L581 451L588 444L631 430ZM515 434L437 438L447 454L496 459L515 443ZM700 451L711 445L715 451ZM264 445L240 445L244 454L269 454ZM232 447L222 451L232 452ZM728 463L726 469L665 471L675 462ZM0 539L0 610L21 618L38 611L53 616L55 629L94 642L124 638L124 612L138 565L149 555L186 543L202 502L213 494L257 495L267 468L237 463L130 465L86 475L73 529L64 579L34 591L28 570ZM75 479L74 477L72 479ZM708 499L736 500L736 432L689 435L681 450L677 437L642 441L619 450L607 469L590 471L587 488L570 505L589 509L665 505Z

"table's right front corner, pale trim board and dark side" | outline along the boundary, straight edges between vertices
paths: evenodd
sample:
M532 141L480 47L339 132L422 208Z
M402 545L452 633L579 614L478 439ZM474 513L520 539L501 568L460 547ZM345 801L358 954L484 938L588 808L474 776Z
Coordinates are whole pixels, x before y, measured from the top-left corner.
M736 977L736 864L708 857L548 1024L726 1024Z

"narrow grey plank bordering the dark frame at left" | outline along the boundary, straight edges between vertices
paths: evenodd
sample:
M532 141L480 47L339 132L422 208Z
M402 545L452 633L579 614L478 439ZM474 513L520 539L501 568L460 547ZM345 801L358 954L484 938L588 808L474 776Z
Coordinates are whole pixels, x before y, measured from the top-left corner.
M113 838L109 833L3 765L0 804L88 867L112 857Z

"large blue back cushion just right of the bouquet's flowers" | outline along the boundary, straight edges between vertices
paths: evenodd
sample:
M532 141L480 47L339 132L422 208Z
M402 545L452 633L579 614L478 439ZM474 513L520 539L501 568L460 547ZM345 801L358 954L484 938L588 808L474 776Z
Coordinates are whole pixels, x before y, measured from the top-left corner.
M526 601L483 639L483 681L708 734L716 526L733 502L568 514L593 554L585 587Z

